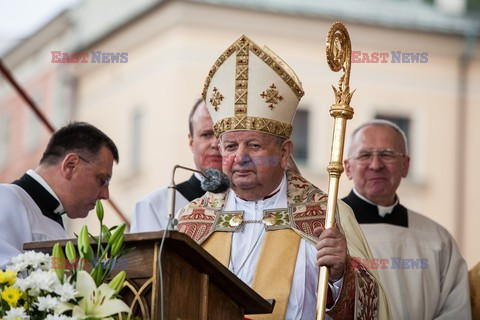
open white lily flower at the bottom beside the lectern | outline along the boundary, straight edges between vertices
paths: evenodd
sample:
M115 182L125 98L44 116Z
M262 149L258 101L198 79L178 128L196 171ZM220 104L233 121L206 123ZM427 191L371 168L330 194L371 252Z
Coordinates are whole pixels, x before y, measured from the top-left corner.
M130 308L125 302L120 299L112 299L115 290L105 283L97 288L95 281L86 271L78 272L76 289L83 299L78 302L78 305L60 302L55 310L56 314L73 310L73 317L78 319L103 319L119 312L130 312Z

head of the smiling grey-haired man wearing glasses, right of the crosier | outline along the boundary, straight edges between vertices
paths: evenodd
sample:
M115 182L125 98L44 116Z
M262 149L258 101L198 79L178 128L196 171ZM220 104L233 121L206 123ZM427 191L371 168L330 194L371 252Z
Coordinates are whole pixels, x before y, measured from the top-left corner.
M352 141L349 158L344 161L345 172L362 196L375 204L389 206L395 201L400 181L408 173L410 158L404 154L403 138L394 129L366 127Z

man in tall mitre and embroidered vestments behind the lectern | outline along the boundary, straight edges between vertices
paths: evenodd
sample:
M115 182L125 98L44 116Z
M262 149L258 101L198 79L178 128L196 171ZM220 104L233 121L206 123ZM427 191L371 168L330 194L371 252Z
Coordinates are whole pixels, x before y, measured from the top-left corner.
M180 211L178 230L275 299L272 314L248 318L313 319L318 266L325 265L332 318L389 319L376 271L350 263L350 256L371 259L350 208L340 202L337 227L323 230L327 195L286 170L303 94L293 70L268 48L246 36L227 48L203 96L231 188L193 200Z

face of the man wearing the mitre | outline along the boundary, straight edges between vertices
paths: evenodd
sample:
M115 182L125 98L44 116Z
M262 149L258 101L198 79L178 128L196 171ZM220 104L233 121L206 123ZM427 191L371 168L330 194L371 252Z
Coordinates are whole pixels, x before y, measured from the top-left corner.
M260 200L280 184L292 142L257 131L229 131L220 139L223 172L245 200Z

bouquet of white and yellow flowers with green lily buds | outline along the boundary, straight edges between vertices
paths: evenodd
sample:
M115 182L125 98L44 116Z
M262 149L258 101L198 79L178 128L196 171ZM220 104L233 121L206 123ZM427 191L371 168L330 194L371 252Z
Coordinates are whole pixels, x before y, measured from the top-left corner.
M98 237L83 226L77 248L68 241L65 249L56 243L52 256L28 251L12 258L5 271L0 270L0 320L114 319L130 312L118 297L125 271L107 283L120 257L129 251L123 245L125 224L108 229L102 222L100 201L96 210L101 227ZM90 239L97 243L96 255Z

